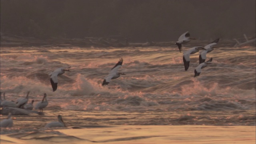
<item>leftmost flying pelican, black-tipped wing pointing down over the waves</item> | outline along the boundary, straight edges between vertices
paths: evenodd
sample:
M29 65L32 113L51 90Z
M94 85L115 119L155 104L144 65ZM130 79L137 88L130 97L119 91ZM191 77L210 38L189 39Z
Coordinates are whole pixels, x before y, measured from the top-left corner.
M50 81L52 84L52 91L54 92L55 90L57 90L57 84L58 84L58 78L57 76L60 76L62 74L65 73L65 71L70 72L70 70L65 70L65 68L70 68L69 67L63 67L63 68L57 68L56 70L54 70L52 73L49 74L49 76L51 76Z

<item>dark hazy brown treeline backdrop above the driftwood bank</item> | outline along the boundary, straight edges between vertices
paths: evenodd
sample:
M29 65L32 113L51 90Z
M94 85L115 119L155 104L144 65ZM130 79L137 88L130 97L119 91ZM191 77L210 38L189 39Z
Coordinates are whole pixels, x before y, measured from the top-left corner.
M1 0L4 34L35 38L121 35L132 41L237 38L256 31L255 0Z

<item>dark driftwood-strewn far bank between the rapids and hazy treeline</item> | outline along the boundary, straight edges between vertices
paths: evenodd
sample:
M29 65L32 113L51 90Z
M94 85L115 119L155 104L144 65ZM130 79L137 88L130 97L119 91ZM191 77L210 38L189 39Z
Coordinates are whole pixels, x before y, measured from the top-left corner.
M255 37L250 37L252 40L248 40L246 37L246 42L239 43L238 39L220 39L219 46L221 47L233 47L237 42L237 46L244 46L246 44L254 44L255 46ZM194 40L185 46L204 46L209 44L211 40ZM51 38L46 40L36 39L32 37L20 37L20 36L1 36L0 46L6 47L15 47L15 46L40 46L40 47L69 47L69 46L79 46L79 47L146 47L146 46L162 46L170 47L174 46L174 41L169 42L128 42L127 38L121 36L109 36L104 38L95 38L95 37L85 37L85 38Z

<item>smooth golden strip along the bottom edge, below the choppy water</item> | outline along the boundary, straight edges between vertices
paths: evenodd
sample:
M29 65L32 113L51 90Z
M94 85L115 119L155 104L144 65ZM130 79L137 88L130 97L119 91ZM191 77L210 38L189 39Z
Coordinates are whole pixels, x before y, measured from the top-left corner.
M131 126L59 129L1 135L1 144L255 144L255 126Z

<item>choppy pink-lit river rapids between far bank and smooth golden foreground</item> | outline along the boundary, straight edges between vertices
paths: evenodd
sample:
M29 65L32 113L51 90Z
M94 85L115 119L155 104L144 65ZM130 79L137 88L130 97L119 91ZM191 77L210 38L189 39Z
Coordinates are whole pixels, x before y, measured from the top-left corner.
M187 48L184 48L186 50ZM194 78L199 54L184 71L173 47L1 48L1 91L7 100L26 96L35 103L48 94L44 116L13 116L14 128L33 131L61 114L66 126L216 125L255 126L255 47L220 48L207 54L213 64ZM101 86L110 69L126 75ZM72 66L52 92L50 72ZM1 119L6 116L1 116Z

